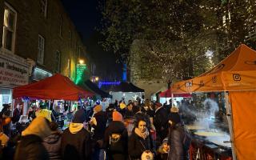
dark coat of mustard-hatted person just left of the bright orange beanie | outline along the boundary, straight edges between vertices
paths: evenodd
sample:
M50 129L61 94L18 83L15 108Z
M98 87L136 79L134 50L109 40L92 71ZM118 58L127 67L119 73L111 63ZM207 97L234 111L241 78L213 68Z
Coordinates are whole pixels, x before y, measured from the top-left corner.
M104 138L104 133L106 130L106 122L107 122L107 115L106 112L100 111L94 114L94 118L96 119L97 125L93 125L94 127L94 140L98 141Z

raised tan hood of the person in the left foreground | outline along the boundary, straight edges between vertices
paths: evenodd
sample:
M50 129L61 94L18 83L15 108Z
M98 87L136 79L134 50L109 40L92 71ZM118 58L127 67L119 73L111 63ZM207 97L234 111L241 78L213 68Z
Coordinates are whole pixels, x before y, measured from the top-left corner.
M28 126L26 130L22 132L22 136L34 134L44 139L49 136L50 133L50 126L46 122L46 118L39 116L37 118L34 118L34 120L30 123L30 126Z

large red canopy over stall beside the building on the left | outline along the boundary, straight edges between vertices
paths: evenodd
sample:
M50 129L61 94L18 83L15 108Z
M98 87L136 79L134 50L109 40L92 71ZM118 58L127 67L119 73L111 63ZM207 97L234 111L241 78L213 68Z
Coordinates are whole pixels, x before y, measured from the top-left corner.
M45 78L26 86L15 87L13 93L14 98L30 97L70 101L77 101L79 98L86 98L92 95L93 93L82 90L82 88L76 86L70 78L62 74L55 74L50 78Z

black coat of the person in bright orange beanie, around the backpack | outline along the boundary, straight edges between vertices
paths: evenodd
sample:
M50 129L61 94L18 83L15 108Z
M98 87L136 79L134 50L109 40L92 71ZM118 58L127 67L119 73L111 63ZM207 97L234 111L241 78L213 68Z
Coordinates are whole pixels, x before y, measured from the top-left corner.
M122 148L118 148L118 150L110 150L110 136L111 134L120 134L121 138L118 140L118 144L121 144ZM126 159L128 152L128 133L126 130L126 126L122 122L113 121L110 122L110 125L106 128L105 138L103 146L106 148L109 159L119 160ZM120 152L119 150L123 150Z

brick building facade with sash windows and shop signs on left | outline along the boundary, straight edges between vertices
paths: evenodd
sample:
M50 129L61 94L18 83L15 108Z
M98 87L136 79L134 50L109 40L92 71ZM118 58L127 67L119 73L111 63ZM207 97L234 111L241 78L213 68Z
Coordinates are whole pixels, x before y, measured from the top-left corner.
M60 0L0 2L0 107L15 86L61 73L72 80L90 59ZM90 74L90 71L87 72Z

